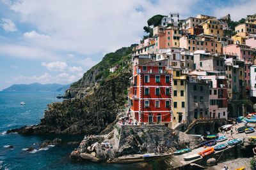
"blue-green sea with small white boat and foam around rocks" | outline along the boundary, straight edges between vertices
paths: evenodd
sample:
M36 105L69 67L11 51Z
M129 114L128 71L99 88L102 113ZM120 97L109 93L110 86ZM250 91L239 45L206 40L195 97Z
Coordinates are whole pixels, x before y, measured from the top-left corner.
M60 92L0 92L0 169L158 169L157 164L106 164L76 162L69 155L84 136L24 136L6 134L8 129L40 123L47 104L61 102ZM61 94L60 94L61 95ZM26 103L20 105L20 102ZM44 150L36 149L45 139L62 139L62 143ZM13 148L8 146L12 145ZM35 150L28 152L33 146Z

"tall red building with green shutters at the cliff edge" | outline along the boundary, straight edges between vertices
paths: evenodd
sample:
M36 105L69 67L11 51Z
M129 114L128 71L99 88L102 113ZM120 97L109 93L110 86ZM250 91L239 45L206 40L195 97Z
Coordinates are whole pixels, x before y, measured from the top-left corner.
M158 62L134 65L129 101L131 117L139 123L168 125L172 120L171 72Z

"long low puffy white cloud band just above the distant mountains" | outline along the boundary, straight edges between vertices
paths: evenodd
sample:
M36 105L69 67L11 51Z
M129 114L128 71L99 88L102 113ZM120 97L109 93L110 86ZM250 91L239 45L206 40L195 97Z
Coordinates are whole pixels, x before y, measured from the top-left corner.
M68 74L68 73L60 73L56 76L52 76L49 73L44 73L39 76L15 76L12 77L12 83L60 83L60 84L68 84L74 81L79 80L81 76L79 74Z

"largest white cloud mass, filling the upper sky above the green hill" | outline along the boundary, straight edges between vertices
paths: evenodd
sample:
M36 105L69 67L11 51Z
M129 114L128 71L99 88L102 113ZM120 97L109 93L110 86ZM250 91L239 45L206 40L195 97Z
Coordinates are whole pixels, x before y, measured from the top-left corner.
M65 3L20 0L13 3L10 9L19 15L20 23L30 24L36 31L50 36L47 41L26 41L50 51L88 55L113 52L122 46L138 43L149 17L158 13L168 15L170 11L188 15L197 1L159 0L159 3L153 4L148 0L74 0Z

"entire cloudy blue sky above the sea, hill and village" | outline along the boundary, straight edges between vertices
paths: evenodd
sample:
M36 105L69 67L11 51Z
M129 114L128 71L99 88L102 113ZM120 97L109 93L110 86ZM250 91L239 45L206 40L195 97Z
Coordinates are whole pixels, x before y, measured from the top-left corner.
M255 9L256 0L0 0L0 90L77 81L106 53L139 43L156 14L239 20Z

